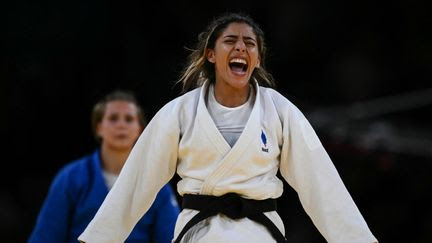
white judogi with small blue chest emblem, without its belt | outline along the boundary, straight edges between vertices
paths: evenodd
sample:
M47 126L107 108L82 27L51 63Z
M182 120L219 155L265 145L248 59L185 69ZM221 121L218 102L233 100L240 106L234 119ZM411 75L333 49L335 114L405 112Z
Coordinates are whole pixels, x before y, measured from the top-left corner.
M234 192L262 200L281 196L279 169L328 242L376 242L314 130L291 102L256 85L249 120L231 148L205 105L207 87L174 99L154 116L80 240L123 242L176 170L180 195ZM175 236L196 213L180 213ZM284 233L277 213L266 215ZM183 242L274 240L260 224L219 214L190 229Z

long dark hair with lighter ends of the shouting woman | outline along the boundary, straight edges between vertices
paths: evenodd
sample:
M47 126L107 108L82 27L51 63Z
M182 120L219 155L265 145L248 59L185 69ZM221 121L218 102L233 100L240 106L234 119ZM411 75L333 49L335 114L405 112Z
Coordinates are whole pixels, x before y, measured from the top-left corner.
M255 79L261 85L275 86L272 75L265 68L266 45L264 32L248 15L243 13L226 13L215 18L207 26L206 30L198 35L196 48L191 49L188 65L183 70L178 81L183 84L183 92L201 86L205 80L209 80L210 82L215 81L214 64L207 60L207 50L208 48L213 49L215 47L216 40L231 23L245 23L252 27L256 35L260 67L255 68L251 79Z

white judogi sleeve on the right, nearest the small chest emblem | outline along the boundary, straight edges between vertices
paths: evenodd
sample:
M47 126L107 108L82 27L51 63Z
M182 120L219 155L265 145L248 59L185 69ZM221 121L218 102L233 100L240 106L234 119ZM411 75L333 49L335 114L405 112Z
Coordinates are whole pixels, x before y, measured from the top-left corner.
M304 115L290 105L282 115L280 172L330 243L378 242Z

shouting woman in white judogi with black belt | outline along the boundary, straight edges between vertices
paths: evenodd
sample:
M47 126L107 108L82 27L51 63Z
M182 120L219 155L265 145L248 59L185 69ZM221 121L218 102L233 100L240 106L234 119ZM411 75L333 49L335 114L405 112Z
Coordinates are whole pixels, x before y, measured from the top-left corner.
M327 241L377 242L305 116L271 88L265 51L248 16L210 23L180 79L187 92L153 117L79 240L123 241L177 173L174 242L286 242L280 171Z

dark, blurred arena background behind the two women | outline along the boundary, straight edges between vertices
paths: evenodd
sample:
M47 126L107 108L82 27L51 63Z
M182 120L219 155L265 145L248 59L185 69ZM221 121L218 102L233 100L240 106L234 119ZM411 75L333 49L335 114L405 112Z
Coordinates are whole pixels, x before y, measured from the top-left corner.
M432 19L411 0L2 3L1 241L25 242L53 176L95 148L94 102L132 89L152 117L179 93L185 47L239 10L265 31L277 89L315 127L375 236L432 242ZM324 242L285 186L288 239Z

